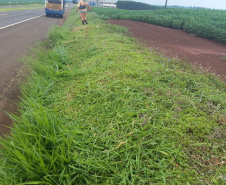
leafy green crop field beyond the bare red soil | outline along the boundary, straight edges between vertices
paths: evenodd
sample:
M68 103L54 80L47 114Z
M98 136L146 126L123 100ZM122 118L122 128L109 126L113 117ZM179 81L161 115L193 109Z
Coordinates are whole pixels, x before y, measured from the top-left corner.
M140 21L185 30L197 36L226 43L226 11L209 9L119 10L95 7L93 11L110 19Z

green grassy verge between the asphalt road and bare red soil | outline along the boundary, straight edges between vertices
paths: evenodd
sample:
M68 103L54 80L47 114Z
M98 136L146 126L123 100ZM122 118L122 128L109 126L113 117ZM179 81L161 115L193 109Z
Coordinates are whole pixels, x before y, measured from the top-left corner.
M78 16L24 58L0 184L225 183L226 84Z

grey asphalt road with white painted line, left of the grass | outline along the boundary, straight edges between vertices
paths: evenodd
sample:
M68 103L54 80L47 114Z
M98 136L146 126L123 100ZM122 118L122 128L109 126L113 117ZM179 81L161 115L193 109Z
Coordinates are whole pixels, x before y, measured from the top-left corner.
M18 59L60 21L45 17L43 9L1 14L5 15L0 16L0 94L21 67Z

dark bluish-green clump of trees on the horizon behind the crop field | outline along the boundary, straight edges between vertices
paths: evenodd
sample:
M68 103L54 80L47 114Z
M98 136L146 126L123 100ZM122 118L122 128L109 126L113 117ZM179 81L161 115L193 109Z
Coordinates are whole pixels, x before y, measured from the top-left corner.
M116 5L118 9L125 10L155 10L160 8L157 6L134 1L117 1Z

